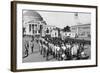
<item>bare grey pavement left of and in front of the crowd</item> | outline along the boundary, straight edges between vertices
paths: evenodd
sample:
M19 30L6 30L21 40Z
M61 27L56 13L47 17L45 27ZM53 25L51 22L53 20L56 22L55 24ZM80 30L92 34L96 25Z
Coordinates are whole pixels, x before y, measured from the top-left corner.
M33 43L34 43L34 49L33 49L34 52L32 54L29 54L28 57L23 58L23 63L46 61L46 58L43 57L43 55L41 55L39 52L39 44L36 41L34 41ZM49 56L49 61L55 61L53 56Z

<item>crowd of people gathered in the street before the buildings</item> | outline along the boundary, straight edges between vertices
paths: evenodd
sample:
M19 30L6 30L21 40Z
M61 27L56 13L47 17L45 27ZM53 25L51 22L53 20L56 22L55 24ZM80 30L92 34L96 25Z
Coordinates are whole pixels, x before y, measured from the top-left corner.
M46 60L52 56L56 60L80 60L90 58L90 44L73 41L62 40L61 38L38 38L35 40L39 44L39 52ZM31 41L32 43L33 41ZM28 56L29 43L25 44L25 54ZM32 52L34 44L31 45Z

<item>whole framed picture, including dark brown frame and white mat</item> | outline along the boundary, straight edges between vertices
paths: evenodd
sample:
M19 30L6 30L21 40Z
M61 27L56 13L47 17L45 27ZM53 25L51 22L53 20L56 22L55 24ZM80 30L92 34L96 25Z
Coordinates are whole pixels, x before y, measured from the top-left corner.
M97 7L12 2L13 71L97 66Z

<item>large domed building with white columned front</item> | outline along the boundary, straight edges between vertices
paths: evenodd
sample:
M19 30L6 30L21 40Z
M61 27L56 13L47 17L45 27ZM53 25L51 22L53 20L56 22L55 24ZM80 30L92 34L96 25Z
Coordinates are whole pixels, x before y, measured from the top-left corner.
M24 35L40 36L42 34L43 25L46 25L46 22L36 11L29 10L23 13Z

